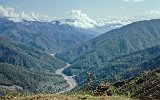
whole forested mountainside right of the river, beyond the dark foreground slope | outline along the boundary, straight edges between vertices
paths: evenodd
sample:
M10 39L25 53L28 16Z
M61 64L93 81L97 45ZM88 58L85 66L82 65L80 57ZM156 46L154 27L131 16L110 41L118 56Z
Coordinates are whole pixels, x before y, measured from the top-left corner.
M145 61L152 57L156 59L159 55L159 26L159 19L135 22L102 34L69 51L58 53L56 57L72 64L64 72L76 75L75 79L79 83L84 81L88 71L94 73L98 80L116 82L129 79L145 70L159 67L152 68L145 64Z

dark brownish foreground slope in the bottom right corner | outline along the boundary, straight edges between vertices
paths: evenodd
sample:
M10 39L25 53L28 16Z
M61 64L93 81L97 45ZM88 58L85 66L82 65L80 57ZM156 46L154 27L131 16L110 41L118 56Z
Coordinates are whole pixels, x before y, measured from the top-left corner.
M160 70L115 84L118 92L138 99L160 99Z

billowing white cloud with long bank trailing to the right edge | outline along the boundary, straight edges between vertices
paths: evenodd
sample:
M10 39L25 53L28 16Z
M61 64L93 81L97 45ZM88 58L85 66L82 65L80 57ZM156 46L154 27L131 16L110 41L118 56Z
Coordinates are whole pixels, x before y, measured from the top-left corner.
M61 20L61 24L68 24L70 26L88 29L105 25L114 25L114 27L121 27L136 21L160 18L160 11L151 10L137 16L108 16L93 19L88 17L87 14L82 13L81 10L72 10L71 12L69 12L69 15L70 17L68 19Z

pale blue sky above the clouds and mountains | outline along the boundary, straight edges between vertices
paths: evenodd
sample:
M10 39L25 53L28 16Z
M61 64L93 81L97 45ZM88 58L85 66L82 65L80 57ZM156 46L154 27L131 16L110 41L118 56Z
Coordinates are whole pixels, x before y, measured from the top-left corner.
M160 11L160 0L0 0L0 5L57 18L66 18L71 10L81 10L91 18L142 16Z

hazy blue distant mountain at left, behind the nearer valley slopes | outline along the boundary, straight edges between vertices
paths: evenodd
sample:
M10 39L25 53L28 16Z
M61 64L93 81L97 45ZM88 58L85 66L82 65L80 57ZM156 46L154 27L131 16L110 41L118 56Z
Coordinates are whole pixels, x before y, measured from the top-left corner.
M95 37L95 34L96 32L60 24L58 21L13 22L0 18L0 36L50 53L72 48Z

